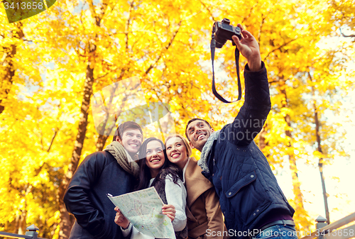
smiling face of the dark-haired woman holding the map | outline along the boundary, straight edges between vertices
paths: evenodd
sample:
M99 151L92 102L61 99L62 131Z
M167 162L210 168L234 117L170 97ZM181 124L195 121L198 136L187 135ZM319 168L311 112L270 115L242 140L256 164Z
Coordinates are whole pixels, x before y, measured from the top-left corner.
M162 145L159 141L153 140L147 144L146 165L151 170L151 176L156 177L160 168L165 162Z

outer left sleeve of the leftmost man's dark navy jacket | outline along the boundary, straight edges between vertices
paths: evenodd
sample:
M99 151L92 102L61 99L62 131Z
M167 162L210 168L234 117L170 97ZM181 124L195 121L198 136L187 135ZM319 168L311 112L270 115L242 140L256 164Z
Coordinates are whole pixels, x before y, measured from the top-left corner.
M67 211L95 238L106 237L108 230L105 230L104 216L89 199L89 191L99 180L106 163L106 157L99 152L87 156L72 176L63 198Z

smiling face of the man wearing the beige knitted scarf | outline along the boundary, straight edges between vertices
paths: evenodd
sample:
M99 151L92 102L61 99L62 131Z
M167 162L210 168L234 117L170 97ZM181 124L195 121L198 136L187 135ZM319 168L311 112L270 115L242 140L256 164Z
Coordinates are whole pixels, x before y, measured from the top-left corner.
M135 155L139 148L141 148L141 144L143 142L143 135L141 130L138 128L127 128L123 135L121 136L122 140L119 140L117 137L117 141L121 143L122 146L129 152L131 155Z

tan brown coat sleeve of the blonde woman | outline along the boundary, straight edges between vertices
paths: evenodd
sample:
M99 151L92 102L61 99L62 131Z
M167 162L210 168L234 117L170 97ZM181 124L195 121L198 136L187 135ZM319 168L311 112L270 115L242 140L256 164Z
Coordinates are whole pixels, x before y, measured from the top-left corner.
M214 190L214 187L208 189L204 192L204 205L207 214L207 227L212 235L208 238L218 238L221 239L223 237L217 236L221 235L224 231L224 220L222 215L221 206L219 205L219 197Z

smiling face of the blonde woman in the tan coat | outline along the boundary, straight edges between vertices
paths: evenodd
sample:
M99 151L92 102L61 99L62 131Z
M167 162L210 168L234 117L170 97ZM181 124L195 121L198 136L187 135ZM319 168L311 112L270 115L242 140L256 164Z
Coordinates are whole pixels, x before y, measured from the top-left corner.
M169 138L166 141L166 154L170 162L183 169L187 162L187 150L184 142L179 137Z

